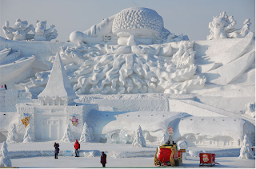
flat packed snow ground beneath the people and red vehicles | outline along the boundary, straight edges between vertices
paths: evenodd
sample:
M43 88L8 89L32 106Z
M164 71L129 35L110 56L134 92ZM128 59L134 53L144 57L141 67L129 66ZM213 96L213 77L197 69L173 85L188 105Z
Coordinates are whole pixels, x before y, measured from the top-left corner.
M54 141L33 143L8 143L12 167L102 167L101 151L107 155L106 167L155 167L154 154L158 145L132 147L130 144L81 143L80 157L74 157L74 143L60 143L58 159L54 159ZM2 146L2 143L0 144ZM73 156L65 156L66 150ZM255 159L239 159L239 148L222 149L189 147L187 159L179 167L199 167L200 152L216 154L215 167L255 168Z

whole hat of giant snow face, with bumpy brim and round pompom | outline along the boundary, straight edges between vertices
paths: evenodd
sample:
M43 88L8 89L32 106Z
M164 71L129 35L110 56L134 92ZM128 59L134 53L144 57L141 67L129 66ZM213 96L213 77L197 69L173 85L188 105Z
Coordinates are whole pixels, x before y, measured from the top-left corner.
M133 7L107 18L85 32L70 33L75 45L107 42L118 45L150 45L162 41L188 40L187 36L176 36L165 29L162 17L154 10Z

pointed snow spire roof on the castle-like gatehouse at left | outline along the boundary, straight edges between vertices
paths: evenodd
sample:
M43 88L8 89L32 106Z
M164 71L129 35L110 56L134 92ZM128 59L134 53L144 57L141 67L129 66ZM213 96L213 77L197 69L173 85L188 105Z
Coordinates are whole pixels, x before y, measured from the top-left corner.
M75 97L62 59L57 53L46 88L38 95L38 99L42 105L68 105L74 102Z

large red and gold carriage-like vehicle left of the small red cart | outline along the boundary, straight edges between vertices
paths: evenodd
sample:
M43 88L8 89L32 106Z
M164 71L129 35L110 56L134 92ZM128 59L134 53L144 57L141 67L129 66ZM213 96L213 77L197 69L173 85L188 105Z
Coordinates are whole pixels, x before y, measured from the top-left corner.
M182 151L178 151L176 144L163 144L157 148L154 155L155 166L179 166L182 163Z

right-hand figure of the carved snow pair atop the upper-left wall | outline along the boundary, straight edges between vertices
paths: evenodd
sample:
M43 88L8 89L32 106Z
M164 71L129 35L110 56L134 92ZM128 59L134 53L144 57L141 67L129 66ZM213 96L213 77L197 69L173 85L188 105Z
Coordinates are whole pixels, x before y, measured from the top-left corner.
M54 29L54 25L50 26L49 29L46 29L47 21L37 21L36 28L32 28L34 32L34 41L51 41L58 37L57 30Z

